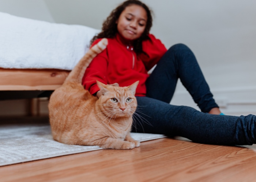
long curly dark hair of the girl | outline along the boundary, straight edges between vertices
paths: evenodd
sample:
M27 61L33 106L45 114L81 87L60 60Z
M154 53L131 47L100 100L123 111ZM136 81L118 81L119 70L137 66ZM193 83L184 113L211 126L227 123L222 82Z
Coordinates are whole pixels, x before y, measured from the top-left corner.
M117 33L117 24L116 21L118 20L121 13L124 11L124 9L130 5L139 5L143 7L147 12L147 23L144 32L139 37L139 39L135 40L133 42L134 51L136 53L142 53L142 41L148 39L148 34L150 31L150 28L152 27L152 15L151 10L147 7L146 4L142 3L139 0L127 0L124 1L124 3L120 4L116 9L114 9L110 15L107 17L107 19L102 24L102 30L98 35L95 35L93 39L91 39L91 44L99 39L99 38L113 38L116 36Z

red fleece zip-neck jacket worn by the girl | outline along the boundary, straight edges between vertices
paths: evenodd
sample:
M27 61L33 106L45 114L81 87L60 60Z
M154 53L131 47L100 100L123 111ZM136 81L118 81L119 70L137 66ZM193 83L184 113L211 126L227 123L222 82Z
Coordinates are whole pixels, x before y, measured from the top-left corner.
M108 39L108 46L98 54L83 77L82 84L91 94L99 91L96 80L104 84L118 83L120 87L129 86L140 81L136 89L136 96L146 95L146 79L149 71L167 51L165 46L154 35L149 35L150 40L142 43L142 49L146 54L137 55L131 47L127 47L119 34ZM95 45L101 39L92 44Z

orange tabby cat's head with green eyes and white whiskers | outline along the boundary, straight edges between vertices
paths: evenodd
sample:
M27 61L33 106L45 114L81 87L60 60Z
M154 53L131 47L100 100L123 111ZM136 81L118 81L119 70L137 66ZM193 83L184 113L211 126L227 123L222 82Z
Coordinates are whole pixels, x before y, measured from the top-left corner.
M106 116L112 118L132 116L137 107L135 92L139 81L128 87L105 85L98 81L97 84L102 92L98 100L99 108Z

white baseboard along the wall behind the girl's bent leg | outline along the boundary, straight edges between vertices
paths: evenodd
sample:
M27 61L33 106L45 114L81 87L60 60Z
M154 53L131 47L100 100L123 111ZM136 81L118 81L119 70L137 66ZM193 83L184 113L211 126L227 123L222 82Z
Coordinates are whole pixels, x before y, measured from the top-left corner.
M226 115L256 115L256 87L233 87L211 90L221 111ZM171 104L199 107L184 89L176 91Z

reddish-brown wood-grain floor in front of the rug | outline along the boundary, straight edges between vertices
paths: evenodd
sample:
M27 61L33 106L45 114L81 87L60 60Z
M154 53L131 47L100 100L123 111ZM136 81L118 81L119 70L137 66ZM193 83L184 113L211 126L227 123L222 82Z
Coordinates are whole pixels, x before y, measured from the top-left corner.
M163 138L3 166L0 181L256 181L256 149Z

